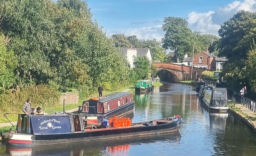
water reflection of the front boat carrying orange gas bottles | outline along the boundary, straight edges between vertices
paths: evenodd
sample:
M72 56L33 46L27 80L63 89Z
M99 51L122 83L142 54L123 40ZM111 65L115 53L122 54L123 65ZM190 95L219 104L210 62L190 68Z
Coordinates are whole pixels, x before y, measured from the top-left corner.
M84 155L101 155L104 150L106 155L117 154L115 152L126 153L130 150L130 145L143 143L156 143L158 141L179 142L181 135L179 132L173 134L154 134L140 137L129 137L124 139L109 139L102 141L89 141L81 143L69 143L61 146L45 145L41 147L11 147L7 146L9 156L84 156ZM93 149L93 150L92 150Z

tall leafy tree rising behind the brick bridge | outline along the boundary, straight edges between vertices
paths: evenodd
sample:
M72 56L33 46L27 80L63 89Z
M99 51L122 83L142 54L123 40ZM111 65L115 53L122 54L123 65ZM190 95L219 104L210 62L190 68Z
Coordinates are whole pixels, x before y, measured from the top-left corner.
M188 28L188 22L181 17L165 17L163 31L163 48L174 50L176 61L179 62L194 38L191 29Z

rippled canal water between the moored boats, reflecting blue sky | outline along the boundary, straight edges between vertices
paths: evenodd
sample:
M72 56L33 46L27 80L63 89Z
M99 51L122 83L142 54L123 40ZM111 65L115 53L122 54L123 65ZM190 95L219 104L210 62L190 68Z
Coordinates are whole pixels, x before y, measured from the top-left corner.
M7 148L3 156L256 156L256 135L229 114L208 113L190 85L155 87L134 95L132 122L180 115L183 124L174 134L73 143L33 148Z

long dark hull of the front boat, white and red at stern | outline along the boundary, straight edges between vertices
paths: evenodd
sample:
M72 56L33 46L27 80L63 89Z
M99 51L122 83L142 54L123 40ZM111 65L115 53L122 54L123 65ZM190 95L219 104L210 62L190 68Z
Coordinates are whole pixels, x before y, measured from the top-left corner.
M39 145L54 145L63 143L75 143L84 141L97 141L103 139L118 139L126 137L138 137L152 134L171 133L178 131L182 124L181 117L177 121L167 119L152 120L156 123L163 122L154 126L145 126L143 123L135 123L128 127L119 128L102 128L102 129L87 129L85 132L64 133L64 134L10 134L12 137L3 139L11 146L39 146ZM166 123L165 123L166 122Z

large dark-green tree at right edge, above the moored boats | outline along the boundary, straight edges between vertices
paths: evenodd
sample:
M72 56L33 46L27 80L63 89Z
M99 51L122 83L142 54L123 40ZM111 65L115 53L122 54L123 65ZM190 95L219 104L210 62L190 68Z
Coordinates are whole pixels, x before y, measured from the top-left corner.
M255 20L256 13L241 10L224 22L218 31L219 56L226 56L231 62L245 58L255 48Z

